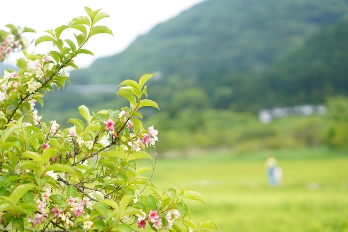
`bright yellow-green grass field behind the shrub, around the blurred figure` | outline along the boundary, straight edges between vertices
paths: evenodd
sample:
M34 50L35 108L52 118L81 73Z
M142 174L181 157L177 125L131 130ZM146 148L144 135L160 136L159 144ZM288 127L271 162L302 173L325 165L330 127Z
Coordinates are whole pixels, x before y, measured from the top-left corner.
M201 193L209 208L188 200L192 219L219 232L348 232L348 153L272 151L284 175L277 187L267 184L267 153L159 159L153 182Z

